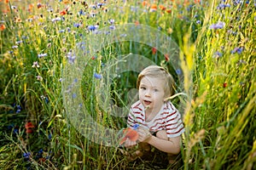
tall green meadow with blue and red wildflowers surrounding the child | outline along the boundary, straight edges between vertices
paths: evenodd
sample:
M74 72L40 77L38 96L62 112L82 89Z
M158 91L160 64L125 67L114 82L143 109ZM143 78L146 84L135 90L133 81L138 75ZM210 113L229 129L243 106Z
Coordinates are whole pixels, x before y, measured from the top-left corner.
M127 162L101 135L125 128L109 105L125 115L137 69L151 62L169 69L176 94L189 94L172 99L183 104L182 164L165 168L255 169L255 0L1 0L0 8L0 169L164 168ZM177 63L149 31L177 44Z

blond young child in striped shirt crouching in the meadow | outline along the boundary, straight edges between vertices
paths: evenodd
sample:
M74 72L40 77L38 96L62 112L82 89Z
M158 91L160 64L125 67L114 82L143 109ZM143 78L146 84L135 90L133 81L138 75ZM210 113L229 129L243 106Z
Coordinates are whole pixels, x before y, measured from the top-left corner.
M173 91L173 78L163 67L150 65L137 78L139 100L131 105L127 124L139 125L139 149L133 157L143 156L143 150L151 146L174 156L180 152L181 134L184 132L180 113L168 97ZM131 147L136 141L126 139L125 146ZM150 146L151 145L151 146ZM173 160L170 160L172 163Z

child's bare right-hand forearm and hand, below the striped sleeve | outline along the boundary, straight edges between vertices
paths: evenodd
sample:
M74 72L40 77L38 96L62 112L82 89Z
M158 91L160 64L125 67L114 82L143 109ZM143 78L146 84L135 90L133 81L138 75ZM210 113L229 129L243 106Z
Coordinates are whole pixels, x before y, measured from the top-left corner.
M147 129L139 128L139 141L153 145L158 150L177 155L180 152L181 137L168 138L166 131L160 131L156 137L151 135Z

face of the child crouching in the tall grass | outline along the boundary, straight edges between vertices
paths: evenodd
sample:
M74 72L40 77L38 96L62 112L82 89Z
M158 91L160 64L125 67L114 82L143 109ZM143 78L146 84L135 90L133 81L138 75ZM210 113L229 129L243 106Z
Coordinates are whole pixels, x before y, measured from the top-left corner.
M143 77L139 86L139 99L151 111L160 111L164 104L165 81L158 77Z

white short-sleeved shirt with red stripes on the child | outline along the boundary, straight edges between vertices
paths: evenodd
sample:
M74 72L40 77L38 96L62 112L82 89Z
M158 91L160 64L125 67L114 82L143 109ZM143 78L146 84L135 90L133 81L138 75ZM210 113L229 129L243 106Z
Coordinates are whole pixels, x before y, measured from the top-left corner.
M171 101L164 103L157 115L149 122L145 121L144 111L145 108L139 100L131 105L127 119L128 126L139 124L140 126L148 127L151 133L166 130L168 138L180 136L184 132L181 115Z

